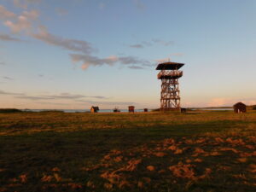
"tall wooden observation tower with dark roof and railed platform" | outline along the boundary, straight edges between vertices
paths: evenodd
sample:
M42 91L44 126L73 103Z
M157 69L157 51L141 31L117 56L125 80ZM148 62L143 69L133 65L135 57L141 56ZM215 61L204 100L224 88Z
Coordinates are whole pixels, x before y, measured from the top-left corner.
M161 111L171 111L180 109L180 96L178 89L178 79L183 76L183 71L178 69L183 67L183 63L164 62L160 63L156 70L160 70L157 78L161 79Z

